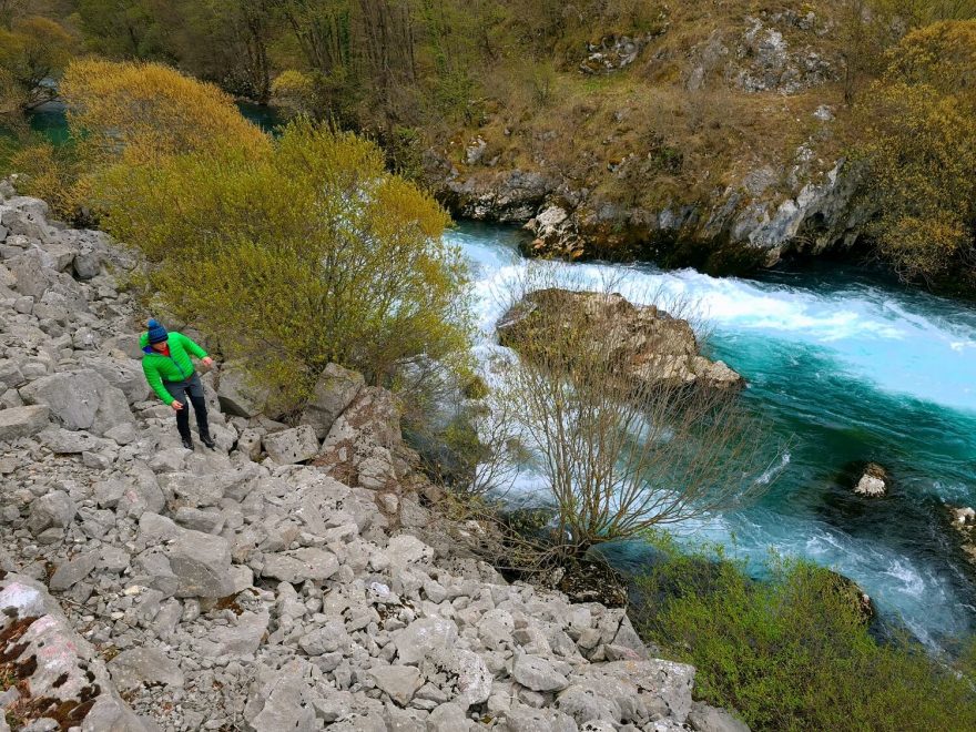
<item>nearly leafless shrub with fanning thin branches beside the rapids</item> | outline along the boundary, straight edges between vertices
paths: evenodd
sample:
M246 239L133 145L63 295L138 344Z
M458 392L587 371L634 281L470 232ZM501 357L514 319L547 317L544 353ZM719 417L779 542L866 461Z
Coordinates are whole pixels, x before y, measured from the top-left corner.
M516 431L538 456L556 552L579 556L732 508L762 487L759 433L730 392L689 385L669 356L648 360L644 342L614 315L619 295L539 288L553 281L533 274L517 287L536 296L519 296L506 316L515 321L499 326L519 358L501 365L498 380ZM647 377L631 377L638 364Z

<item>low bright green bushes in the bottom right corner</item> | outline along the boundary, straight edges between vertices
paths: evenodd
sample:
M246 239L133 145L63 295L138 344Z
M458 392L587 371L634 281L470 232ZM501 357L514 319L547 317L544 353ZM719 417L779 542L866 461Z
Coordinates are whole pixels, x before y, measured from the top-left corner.
M976 648L950 662L875 640L851 584L813 565L772 559L754 582L721 555L668 555L640 580L640 630L753 730L976 729Z

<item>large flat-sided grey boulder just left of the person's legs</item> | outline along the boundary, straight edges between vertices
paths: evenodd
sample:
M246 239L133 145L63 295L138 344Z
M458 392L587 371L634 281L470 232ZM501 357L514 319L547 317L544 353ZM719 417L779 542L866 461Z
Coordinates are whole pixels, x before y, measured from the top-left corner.
M122 423L134 421L125 394L90 369L43 376L21 387L20 396L27 404L50 407L51 415L68 429L104 435Z

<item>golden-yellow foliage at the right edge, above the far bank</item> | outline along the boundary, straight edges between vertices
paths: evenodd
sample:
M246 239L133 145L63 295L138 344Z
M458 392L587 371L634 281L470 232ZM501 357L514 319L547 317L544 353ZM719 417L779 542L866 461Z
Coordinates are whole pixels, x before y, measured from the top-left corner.
M972 276L976 253L976 21L916 30L865 101L868 194L882 253L909 278ZM962 272L953 272L953 270Z

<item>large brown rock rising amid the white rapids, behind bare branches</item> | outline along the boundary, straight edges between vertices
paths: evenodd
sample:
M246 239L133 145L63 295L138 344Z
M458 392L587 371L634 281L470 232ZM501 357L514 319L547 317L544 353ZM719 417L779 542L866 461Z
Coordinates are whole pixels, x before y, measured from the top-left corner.
M618 375L637 388L734 389L744 384L723 362L699 354L687 321L653 305L633 305L622 295L553 288L529 293L499 321L499 340L531 357L526 350L547 340L539 328L599 333L609 370L622 369Z

